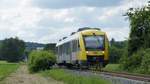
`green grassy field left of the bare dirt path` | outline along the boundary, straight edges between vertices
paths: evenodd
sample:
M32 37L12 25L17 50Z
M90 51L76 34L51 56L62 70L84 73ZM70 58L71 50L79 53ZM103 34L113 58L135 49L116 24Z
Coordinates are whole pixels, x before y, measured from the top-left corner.
M7 77L10 73L14 72L19 67L16 63L7 63L0 61L0 80Z

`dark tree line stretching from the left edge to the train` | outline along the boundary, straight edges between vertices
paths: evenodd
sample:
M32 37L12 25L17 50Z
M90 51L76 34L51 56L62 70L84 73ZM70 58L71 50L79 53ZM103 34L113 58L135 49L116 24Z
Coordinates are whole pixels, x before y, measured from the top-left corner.
M17 37L4 39L0 41L0 60L6 60L8 62L24 61L29 53L36 49L28 49L33 44L38 47L37 43L29 44L29 42L24 42ZM55 51L55 44L39 44L39 46L42 45L46 51Z

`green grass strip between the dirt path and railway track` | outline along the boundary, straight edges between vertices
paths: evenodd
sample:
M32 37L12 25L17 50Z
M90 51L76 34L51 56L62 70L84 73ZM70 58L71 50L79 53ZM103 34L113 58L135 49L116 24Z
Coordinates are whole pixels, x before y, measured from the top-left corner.
M52 77L55 80L63 81L65 84L110 84L109 81L103 80L96 76L79 76L67 73L63 69L52 69L41 72L43 76Z

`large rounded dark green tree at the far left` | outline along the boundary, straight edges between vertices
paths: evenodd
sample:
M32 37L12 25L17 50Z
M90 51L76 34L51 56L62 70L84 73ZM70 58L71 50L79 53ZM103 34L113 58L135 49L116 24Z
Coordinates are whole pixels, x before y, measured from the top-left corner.
M16 38L9 38L2 41L1 56L2 59L9 62L18 62L22 59L25 50L25 43L23 40Z

